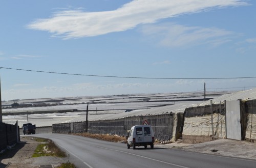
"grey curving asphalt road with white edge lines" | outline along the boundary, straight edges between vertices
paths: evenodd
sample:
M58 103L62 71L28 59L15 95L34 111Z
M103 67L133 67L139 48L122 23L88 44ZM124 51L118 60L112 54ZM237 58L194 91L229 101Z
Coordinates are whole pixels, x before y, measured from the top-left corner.
M177 149L136 147L69 134L35 134L52 139L77 167L255 167L256 160ZM68 161L68 160L67 160Z

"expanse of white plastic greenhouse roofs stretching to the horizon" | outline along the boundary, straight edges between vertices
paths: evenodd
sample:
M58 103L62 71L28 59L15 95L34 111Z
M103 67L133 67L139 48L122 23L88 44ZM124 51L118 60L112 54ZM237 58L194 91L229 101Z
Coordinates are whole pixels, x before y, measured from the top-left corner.
M182 98L179 98L182 97ZM211 96L212 97L212 96ZM214 97L214 96L213 96ZM215 96L216 97L216 96ZM142 99L150 98L151 101L143 102ZM200 94L152 94L152 95L135 95L135 96L115 96L115 97L82 97L75 100L65 100L62 103L65 105L46 106L46 107L26 107L26 108L10 108L3 109L3 113L14 113L20 111L47 111L47 110L63 110L63 109L78 109L81 111L67 112L67 113L53 113L53 114L32 114L27 115L12 115L3 116L3 122L8 124L14 124L18 121L18 125L21 127L24 123L36 124L37 127L52 126L57 123L69 123L86 121L86 109L87 102L89 103L89 115L88 120L112 120L118 118L125 118L131 116L145 116L145 115L158 115L165 113L184 113L184 110L188 106L193 106L201 103L201 101L176 101L182 99L203 98ZM60 99L60 98L56 98ZM30 103L40 102L45 100L56 99L35 99L35 100L18 100L3 102L3 104L12 104L14 102ZM65 99L65 98L63 98ZM161 100L161 101L160 101ZM136 102L137 101L137 102ZM138 102L140 101L140 102ZM74 104L84 103L84 104ZM175 103L175 104L174 104ZM174 105L170 105L174 104ZM157 107L158 106L158 107ZM159 107L160 106L160 107ZM96 111L97 109L97 111ZM126 109L136 109L129 112L125 112Z

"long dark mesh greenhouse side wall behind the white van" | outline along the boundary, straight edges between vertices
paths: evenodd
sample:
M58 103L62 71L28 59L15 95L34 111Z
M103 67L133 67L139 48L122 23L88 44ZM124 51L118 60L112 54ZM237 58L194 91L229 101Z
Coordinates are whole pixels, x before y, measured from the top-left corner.
M127 131L134 125L147 121L154 130L155 138L166 141L171 138L178 139L183 114L162 114L148 116L133 116L116 120L97 120L88 122L88 132L99 134L116 134L126 136ZM86 122L53 124L52 133L81 133L86 130ZM174 131L175 130L175 131Z

